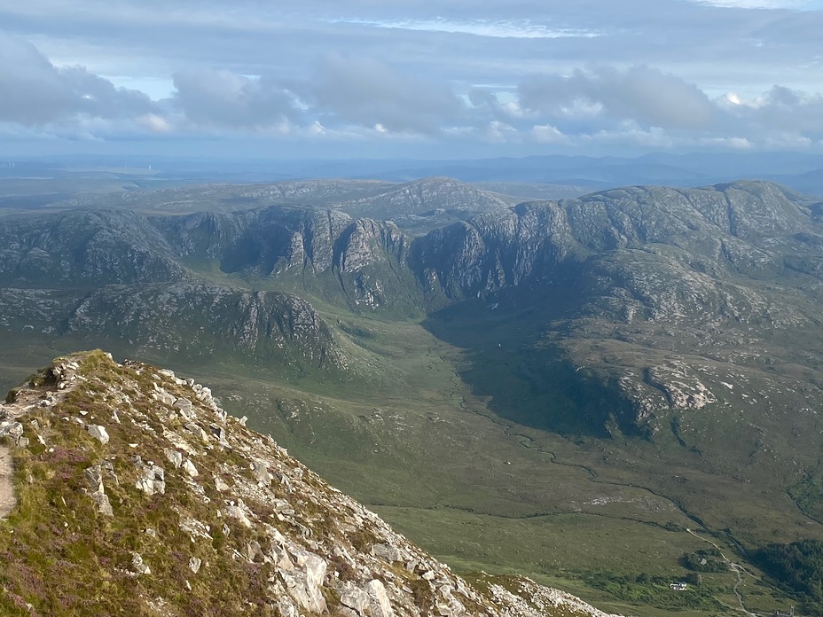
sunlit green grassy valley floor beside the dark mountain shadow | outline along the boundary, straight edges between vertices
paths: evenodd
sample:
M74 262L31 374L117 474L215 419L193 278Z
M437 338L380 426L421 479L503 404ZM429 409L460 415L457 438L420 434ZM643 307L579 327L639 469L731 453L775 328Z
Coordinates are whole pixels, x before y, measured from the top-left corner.
M761 488L759 503L750 484L694 469L687 456L672 468L652 442L564 438L501 421L460 379L465 356L418 324L349 316L348 329L369 353L390 358L388 372L403 379L378 376L359 393L312 384L307 394L302 384L198 378L223 394L227 408L461 572L551 578L615 603L585 573L682 577L678 560L705 547L669 530L697 527L683 510L704 517L721 538L735 511L748 512L763 537L772 529L815 533L788 499L774 504ZM748 522L741 519L741 528ZM655 611L629 612L662 614Z

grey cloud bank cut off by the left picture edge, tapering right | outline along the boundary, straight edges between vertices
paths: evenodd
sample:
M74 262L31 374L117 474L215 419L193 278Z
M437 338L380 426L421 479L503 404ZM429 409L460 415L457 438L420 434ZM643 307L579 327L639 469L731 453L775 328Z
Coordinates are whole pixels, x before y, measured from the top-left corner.
M81 66L57 67L21 39L0 35L0 121L27 126L79 115L126 118L153 112L150 98Z

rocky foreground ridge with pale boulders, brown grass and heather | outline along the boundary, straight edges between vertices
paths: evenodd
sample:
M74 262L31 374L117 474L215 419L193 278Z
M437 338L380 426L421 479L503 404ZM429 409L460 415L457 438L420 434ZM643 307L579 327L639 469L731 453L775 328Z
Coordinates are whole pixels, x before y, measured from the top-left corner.
M453 574L172 371L59 358L0 405L0 435L6 615L607 617Z

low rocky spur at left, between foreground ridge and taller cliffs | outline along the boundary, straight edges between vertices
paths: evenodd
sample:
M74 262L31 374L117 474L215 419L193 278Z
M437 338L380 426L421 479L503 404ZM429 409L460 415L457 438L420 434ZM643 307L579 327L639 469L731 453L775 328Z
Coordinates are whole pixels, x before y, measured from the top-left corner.
M116 332L138 349L188 357L222 350L276 359L293 372L335 371L344 361L333 333L309 302L289 293L222 285L102 287L67 321L67 334L93 332Z

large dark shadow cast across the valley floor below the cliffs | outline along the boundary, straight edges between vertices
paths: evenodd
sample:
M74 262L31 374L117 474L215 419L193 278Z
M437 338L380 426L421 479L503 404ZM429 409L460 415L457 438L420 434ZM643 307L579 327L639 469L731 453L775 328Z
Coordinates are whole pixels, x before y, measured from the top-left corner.
M616 383L571 363L560 337L569 299L523 295L464 301L431 314L423 325L463 349L459 377L488 398L500 418L564 436L639 436L631 402ZM497 306L495 306L497 305ZM494 307L494 308L492 308Z

